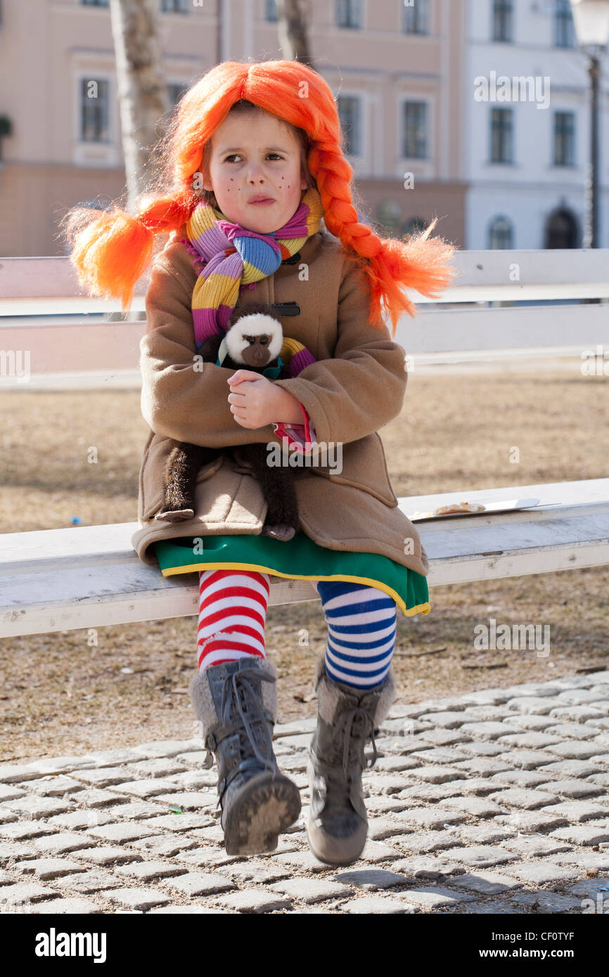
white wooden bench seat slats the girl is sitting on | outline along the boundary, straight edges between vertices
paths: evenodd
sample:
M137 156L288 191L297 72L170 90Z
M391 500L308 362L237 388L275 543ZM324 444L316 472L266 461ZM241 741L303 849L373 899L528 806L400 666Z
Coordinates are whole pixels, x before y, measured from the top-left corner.
M462 492L401 498L405 512ZM468 491L472 500L541 498L536 509L421 522L431 587L609 563L609 479ZM560 501L557 501L560 499ZM0 636L197 613L196 573L164 577L131 547L137 523L0 537ZM273 577L270 604L319 600L308 580Z

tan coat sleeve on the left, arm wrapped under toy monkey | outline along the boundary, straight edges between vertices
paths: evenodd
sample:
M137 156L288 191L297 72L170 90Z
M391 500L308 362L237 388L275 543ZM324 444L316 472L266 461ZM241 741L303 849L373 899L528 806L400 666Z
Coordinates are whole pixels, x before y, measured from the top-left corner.
M234 370L196 356L192 293L168 251L155 259L146 293L147 332L140 342L144 419L155 434L192 445L277 441L271 424L251 430L235 420L227 383Z

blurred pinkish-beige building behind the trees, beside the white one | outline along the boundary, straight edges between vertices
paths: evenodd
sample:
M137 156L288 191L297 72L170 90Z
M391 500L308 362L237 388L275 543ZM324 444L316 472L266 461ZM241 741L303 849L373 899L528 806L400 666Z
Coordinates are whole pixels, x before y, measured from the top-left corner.
M466 0L311 0L311 56L336 97L361 216L465 239ZM158 0L173 104L219 61L281 58L275 0ZM108 0L3 0L0 254L64 253L78 202L125 189ZM93 83L93 84L92 84ZM91 93L94 97L91 97Z

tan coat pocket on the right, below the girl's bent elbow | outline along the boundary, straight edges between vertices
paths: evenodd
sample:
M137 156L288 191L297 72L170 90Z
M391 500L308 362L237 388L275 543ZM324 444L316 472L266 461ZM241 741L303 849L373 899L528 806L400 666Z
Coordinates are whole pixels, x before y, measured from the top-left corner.
M353 486L370 492L370 495L390 508L395 508L398 504L387 471L383 443L377 432L346 445L338 444L330 463L312 465L311 471L338 485Z

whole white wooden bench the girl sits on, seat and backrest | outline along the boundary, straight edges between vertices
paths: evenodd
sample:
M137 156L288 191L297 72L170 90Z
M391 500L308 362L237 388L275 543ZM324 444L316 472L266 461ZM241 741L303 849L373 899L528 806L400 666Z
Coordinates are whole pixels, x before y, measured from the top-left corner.
M609 343L609 250L469 251L457 253L455 264L457 281L445 292L442 303L431 306L422 296L413 296L420 302L419 316L405 318L398 327L396 338L413 356L414 368L433 351L444 353L447 361L492 360L501 350L579 357L597 354L603 343ZM520 269L520 280L510 278L514 268ZM563 302L590 297L601 298L602 304L455 307L485 301ZM446 305L450 308L443 308ZM115 308L115 304L80 296L65 258L3 259L0 313L87 313L102 308ZM134 308L143 308L142 295ZM91 336L98 335L102 349L108 348L109 332L118 335L125 325L128 323L91 323L88 329ZM60 327L78 329L82 339L82 323ZM53 324L43 328L53 328ZM142 322L131 323L127 341L133 343L143 329ZM28 333L29 327L16 326L15 321L3 329L0 320L0 350L22 348L25 330ZM47 340L40 349L51 346ZM38 366L43 373L54 368L44 360ZM35 368L34 362L34 372ZM608 373L609 362L605 375ZM4 380L11 378L0 376L0 390L15 386ZM18 389L26 385L20 383ZM400 507L409 514L460 501L464 494L472 501L488 502L537 497L541 505L520 512L419 523L429 557L430 587L609 563L609 478L460 489L401 498ZM130 543L136 529L137 523L121 523L0 535L0 636L196 614L196 574L163 577L156 567L142 563ZM308 600L319 600L308 581L273 578L271 604Z

